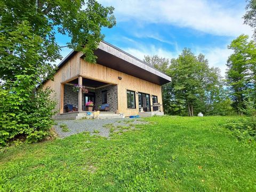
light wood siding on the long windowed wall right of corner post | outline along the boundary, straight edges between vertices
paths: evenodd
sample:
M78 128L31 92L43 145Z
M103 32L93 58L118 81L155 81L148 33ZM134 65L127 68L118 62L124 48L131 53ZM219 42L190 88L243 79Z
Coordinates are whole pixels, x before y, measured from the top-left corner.
M81 60L81 73L79 75L86 78L92 78L97 81L117 84L118 110L119 113L123 113L125 114L125 116L138 115L139 113L138 94L135 94L136 108L128 109L126 90L156 95L158 98L158 102L160 102L161 104L163 103L160 85L147 82L131 75L124 74L117 70L110 69L99 64L88 63L85 60ZM118 77L122 77L122 79L119 80ZM150 97L150 104L152 105L152 97ZM153 108L151 107L151 111L152 110ZM163 111L163 106L161 106L161 111Z

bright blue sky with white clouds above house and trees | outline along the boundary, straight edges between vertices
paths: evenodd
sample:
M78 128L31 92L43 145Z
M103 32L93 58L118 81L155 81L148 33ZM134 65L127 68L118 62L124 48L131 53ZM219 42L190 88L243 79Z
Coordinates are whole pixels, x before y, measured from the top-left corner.
M177 58L185 47L203 53L209 65L225 75L232 53L227 45L241 34L252 35L243 25L244 0L99 0L115 7L117 25L104 28L105 41L143 59L144 55ZM57 36L65 45L68 38ZM62 50L62 56L70 52ZM57 61L58 63L59 61Z

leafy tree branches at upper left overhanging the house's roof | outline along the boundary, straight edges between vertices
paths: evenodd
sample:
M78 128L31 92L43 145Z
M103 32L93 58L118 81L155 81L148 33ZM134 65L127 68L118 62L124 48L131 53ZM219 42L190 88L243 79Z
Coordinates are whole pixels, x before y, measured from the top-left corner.
M50 62L61 57L61 46L55 41L57 32L71 38L67 44L70 49L82 51L87 61L95 62L93 50L97 49L103 38L101 28L111 28L115 25L113 11L113 7L103 7L95 0L3 0L0 6L0 24L2 29L5 29L2 30L2 36L9 39L10 32L17 30L18 25L26 21L24 23L31 27L31 33L42 39L40 47L44 47L44 52L37 55L41 62L30 65L37 65L38 70L43 70L44 78L44 75L51 73ZM13 79L28 65L28 62L12 62L11 57L16 56L9 47L1 51L1 59L11 59L9 62L1 62L2 80Z

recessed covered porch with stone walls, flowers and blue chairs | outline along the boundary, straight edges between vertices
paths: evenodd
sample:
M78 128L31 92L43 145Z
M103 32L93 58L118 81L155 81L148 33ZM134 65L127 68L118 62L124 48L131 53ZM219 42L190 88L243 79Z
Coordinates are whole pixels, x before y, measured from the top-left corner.
M61 84L60 115L118 110L117 85L77 76Z

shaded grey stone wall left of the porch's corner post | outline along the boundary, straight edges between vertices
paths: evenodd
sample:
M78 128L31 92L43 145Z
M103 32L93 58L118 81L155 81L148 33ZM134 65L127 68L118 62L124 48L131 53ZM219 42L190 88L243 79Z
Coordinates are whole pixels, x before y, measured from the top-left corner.
M78 106L78 92L73 91L73 85L64 85L64 106L67 104L72 104L74 107Z

